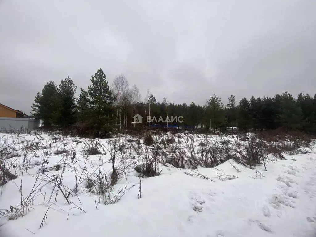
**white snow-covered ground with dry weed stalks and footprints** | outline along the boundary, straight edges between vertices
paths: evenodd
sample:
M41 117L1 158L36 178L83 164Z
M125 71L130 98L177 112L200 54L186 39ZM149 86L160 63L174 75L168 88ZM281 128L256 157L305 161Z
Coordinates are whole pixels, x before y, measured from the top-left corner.
M267 171L233 160L196 170L159 163L161 174L150 178L139 178L133 168L142 155L127 148L115 153L124 172L104 201L94 186L95 180L108 180L100 176L111 176L113 141L0 137L0 147L5 143L13 156L6 165L18 176L0 187L1 237L316 236L315 147L306 154L283 154L286 160L270 162ZM99 143L102 154L84 152L92 143Z

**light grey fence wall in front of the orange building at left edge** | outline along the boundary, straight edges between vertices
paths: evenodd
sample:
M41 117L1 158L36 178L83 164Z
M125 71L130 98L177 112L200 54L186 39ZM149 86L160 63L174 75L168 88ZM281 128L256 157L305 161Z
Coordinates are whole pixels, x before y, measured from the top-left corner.
M0 132L10 130L23 130L23 132L30 132L37 129L39 125L40 120L38 119L0 117Z

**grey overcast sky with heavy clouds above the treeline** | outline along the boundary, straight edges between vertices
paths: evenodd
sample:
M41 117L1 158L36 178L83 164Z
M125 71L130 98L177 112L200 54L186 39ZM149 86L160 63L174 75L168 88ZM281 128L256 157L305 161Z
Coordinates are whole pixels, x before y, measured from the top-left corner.
M145 96L204 105L316 93L316 1L0 0L0 103L28 113L49 81L102 68Z

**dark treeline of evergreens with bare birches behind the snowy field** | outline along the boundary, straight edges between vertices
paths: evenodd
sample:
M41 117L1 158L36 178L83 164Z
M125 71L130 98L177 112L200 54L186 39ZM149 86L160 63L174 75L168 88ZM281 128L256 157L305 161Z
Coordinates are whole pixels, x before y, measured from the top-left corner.
M281 128L316 133L316 94L312 97L300 93L295 99L289 92L284 92L274 97L243 98L239 103L231 95L227 105L213 94L204 106L200 106L194 102L190 105L170 103L165 97L159 102L148 90L144 102L141 102L135 84L130 88L125 76L119 75L110 87L101 68L91 77L87 90L80 90L76 98L76 86L69 76L59 85L47 82L35 96L32 115L42 119L47 126L90 125L96 135L99 131L110 131L114 125L120 128L167 125L161 121L147 122L146 116L155 116L157 120L160 116L164 119L183 116L182 123L173 121L168 125L193 129L203 127L215 131L233 126L244 131ZM132 123L137 113L144 117L142 125Z

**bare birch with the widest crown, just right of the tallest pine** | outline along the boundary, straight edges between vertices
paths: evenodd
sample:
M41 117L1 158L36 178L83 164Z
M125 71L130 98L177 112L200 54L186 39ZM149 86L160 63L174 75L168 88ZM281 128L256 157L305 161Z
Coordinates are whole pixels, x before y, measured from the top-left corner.
M122 111L128 97L128 88L130 84L128 83L126 77L121 74L114 77L111 90L113 94L116 95L116 106L119 110L119 128L122 128Z

